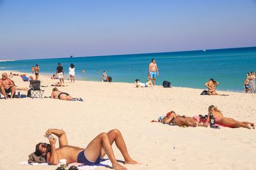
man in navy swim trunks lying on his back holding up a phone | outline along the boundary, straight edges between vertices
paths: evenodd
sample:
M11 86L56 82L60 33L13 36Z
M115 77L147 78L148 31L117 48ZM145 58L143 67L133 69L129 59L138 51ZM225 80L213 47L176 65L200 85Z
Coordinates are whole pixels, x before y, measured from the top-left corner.
M59 148L55 147L56 139L51 134L56 135L59 138ZM122 134L117 129L113 129L108 133L102 132L96 138L94 138L86 148L79 148L77 146L68 145L67 136L65 131L58 129L48 129L45 132L45 136L49 137L49 143L38 143L36 145L36 153L47 157L47 162L52 165L57 165L59 160L66 159L67 164L72 162L83 163L86 166L94 166L99 164L100 160L108 155L109 160L113 165L113 169L127 170L124 166L121 166L116 161L113 153L112 144L115 141L117 148L122 153L125 164L138 164L135 160L132 160Z

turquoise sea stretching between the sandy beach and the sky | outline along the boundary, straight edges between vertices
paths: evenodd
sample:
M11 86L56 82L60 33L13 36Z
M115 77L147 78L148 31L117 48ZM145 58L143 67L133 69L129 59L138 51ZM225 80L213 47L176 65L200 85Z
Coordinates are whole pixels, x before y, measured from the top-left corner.
M99 81L104 70L115 82L133 83L136 78L147 80L148 64L155 58L159 68L156 84L164 80L175 87L205 89L210 78L219 81L218 89L241 92L246 73L256 71L256 47L196 50L184 52L140 53L130 55L106 55L95 57L66 57L58 59L13 60L0 62L0 70L31 72L38 64L40 73L53 74L58 62L65 69L76 66L76 79ZM86 73L81 73L82 69Z

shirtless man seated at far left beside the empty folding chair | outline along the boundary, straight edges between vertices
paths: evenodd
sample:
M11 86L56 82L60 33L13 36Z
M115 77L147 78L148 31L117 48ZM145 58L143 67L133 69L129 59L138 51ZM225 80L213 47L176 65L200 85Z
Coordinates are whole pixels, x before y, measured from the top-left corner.
M0 88L1 93L4 96L4 99L8 99L7 95L11 93L10 99L13 98L15 94L15 85L13 84L13 81L8 78L7 73L2 74L2 78L0 79Z

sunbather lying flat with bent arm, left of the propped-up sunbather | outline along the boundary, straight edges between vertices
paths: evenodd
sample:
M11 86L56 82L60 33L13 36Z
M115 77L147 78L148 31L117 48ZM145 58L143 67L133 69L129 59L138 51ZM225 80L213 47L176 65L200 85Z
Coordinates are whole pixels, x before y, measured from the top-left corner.
M185 117L176 115L174 111L170 111L169 113L166 114L166 117L163 119L163 123L166 124L175 124L175 125L186 125L186 126L191 126L191 127L207 127L208 125L206 124L201 124L197 120L191 117Z

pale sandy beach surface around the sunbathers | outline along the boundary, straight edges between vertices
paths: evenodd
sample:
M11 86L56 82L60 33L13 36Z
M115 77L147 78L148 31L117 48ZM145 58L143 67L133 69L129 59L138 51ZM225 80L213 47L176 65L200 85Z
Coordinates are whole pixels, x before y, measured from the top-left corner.
M29 83L22 81L20 76L14 76L12 80L18 87L29 87ZM42 85L48 85L44 96L51 96L51 84L58 80L42 75L40 80ZM171 110L191 117L206 115L211 104L218 106L225 117L256 122L255 94L219 92L228 96L200 96L202 89L135 88L132 83L115 82L66 82L67 87L58 89L72 97L82 97L83 102L49 98L0 99L1 170L56 169L57 166L18 164L28 160L36 143L48 142L43 135L49 128L65 130L69 145L80 147L86 147L100 132L119 129L131 157L141 163L124 165L131 170L256 169L256 130L183 128L150 122ZM20 92L26 94L26 91ZM113 149L116 159L124 160L115 145Z

